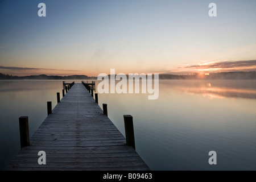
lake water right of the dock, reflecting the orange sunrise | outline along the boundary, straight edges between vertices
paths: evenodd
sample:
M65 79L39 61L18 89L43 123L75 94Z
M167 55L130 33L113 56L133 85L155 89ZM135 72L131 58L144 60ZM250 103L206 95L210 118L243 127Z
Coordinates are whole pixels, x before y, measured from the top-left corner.
M99 96L123 135L123 114L133 115L137 151L155 170L255 170L255 98L254 80L160 80L158 100Z

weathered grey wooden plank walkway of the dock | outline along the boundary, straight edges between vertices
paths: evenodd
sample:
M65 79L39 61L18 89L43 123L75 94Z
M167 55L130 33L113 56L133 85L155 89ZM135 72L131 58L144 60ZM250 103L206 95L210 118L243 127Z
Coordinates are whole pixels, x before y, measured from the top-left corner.
M39 151L46 164L39 165ZM52 110L6 170L150 170L82 84Z

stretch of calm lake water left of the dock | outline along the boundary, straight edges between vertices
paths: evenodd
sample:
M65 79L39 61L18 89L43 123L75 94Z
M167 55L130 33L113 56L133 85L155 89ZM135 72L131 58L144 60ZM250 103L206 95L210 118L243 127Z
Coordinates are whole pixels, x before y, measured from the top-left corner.
M18 118L28 116L32 136L47 116L47 101L55 107L56 92L61 93L62 86L59 80L0 81L0 169L20 149Z

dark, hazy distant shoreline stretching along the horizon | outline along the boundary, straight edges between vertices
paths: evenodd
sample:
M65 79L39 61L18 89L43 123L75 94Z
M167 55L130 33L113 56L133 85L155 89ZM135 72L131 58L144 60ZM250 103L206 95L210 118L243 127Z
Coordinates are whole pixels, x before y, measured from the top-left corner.
M110 76L110 75L109 75ZM154 75L153 75L154 77ZM202 75L194 73L192 75L159 75L159 80L255 80L256 72L222 72ZM0 73L0 80L97 80L97 77L88 77L86 75L71 76L48 76L48 75L30 75L30 76L12 76Z

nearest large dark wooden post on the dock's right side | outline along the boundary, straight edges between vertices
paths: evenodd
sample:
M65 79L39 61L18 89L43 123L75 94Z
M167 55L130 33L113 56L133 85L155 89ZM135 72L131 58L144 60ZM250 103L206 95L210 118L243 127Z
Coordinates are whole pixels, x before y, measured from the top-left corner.
M131 115L123 115L125 120L125 138L127 146L132 146L135 149L133 117Z

